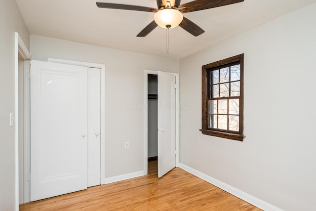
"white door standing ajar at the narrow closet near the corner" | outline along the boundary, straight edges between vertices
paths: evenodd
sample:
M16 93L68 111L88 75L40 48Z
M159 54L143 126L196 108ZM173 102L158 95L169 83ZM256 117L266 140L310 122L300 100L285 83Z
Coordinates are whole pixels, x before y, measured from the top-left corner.
M175 168L175 76L158 72L158 177Z

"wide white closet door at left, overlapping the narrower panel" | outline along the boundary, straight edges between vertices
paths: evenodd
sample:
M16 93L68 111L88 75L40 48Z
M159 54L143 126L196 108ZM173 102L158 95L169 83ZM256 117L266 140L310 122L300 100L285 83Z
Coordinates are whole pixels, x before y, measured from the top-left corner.
M87 188L87 68L31 61L31 201Z

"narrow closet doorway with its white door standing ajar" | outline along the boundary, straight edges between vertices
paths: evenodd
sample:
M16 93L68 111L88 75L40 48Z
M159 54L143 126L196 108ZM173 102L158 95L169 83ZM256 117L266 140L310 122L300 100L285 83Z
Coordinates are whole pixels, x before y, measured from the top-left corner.
M144 79L144 174L157 152L161 177L179 163L179 74L145 70Z

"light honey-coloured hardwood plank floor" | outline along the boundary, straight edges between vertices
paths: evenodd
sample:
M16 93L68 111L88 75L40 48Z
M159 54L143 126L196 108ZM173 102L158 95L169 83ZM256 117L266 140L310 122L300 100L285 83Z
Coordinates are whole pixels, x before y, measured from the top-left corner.
M20 205L20 211L260 211L260 209L175 168L158 178L157 161L148 175Z

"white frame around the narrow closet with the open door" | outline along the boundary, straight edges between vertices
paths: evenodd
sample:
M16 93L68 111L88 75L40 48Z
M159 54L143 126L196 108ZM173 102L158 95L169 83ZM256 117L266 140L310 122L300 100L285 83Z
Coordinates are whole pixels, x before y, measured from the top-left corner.
M159 77L159 72L156 70L144 70L144 175L148 174L148 75L157 75ZM178 73L169 73L176 78L176 127L175 127L175 139L176 139L176 167L179 167L179 74ZM159 97L159 96L158 96Z

